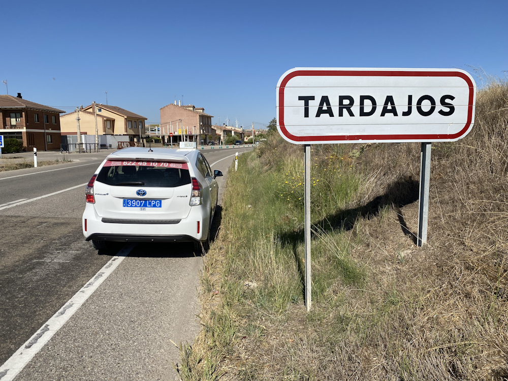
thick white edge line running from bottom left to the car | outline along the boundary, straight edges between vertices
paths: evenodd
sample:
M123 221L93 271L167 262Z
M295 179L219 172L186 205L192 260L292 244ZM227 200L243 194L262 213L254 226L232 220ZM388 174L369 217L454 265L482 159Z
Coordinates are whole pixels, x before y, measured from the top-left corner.
M102 282L129 256L136 244L125 245L104 265L66 304L0 366L0 381L11 381L30 362L53 335L71 318L79 307L96 291Z

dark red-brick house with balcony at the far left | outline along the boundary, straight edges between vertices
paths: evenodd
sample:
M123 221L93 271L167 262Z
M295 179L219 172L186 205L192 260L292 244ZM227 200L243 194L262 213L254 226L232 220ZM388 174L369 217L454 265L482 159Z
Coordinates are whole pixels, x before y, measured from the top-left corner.
M23 150L60 149L60 114L65 111L21 97L0 95L0 135L23 141Z

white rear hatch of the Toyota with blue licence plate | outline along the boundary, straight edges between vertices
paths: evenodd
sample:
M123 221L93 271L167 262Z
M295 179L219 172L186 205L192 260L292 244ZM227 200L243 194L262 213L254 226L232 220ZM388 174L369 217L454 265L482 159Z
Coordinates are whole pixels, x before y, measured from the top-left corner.
M187 163L108 160L93 186L93 206L106 220L179 220L190 212L191 192Z

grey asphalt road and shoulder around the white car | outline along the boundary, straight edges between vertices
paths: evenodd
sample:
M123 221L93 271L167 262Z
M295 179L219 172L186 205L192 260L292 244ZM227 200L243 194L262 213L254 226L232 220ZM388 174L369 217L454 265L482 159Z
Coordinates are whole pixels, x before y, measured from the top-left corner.
M248 149L204 154L226 175L234 156L225 157ZM0 173L0 364L122 249L98 252L81 233L80 185L108 153ZM136 244L16 381L178 379L171 340L192 342L199 332L201 264L192 244Z

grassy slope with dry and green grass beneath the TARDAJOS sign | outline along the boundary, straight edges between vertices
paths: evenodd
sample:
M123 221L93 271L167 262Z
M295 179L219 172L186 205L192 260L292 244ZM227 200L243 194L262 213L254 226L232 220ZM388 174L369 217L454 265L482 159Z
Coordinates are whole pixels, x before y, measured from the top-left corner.
M433 144L423 248L419 144L313 146L308 314L303 152L272 136L240 156L182 378L507 379L506 104L492 84L473 131Z

